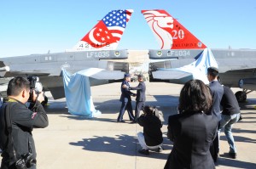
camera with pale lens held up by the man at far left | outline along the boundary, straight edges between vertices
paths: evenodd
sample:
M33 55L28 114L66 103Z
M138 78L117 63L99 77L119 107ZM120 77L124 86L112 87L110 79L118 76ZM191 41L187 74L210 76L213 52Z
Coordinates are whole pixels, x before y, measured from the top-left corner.
M27 80L30 82L30 96L28 102L33 101L33 91L36 92L38 95L39 93L43 92L43 85L39 82L38 76L27 76Z

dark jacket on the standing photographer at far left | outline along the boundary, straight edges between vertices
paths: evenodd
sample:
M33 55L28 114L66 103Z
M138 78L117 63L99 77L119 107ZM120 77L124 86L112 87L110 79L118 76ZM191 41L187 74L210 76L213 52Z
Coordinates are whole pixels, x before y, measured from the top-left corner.
M32 151L33 158L36 159L36 149L34 140L32 138L33 128L44 128L49 124L48 117L44 111L44 108L40 102L36 102L32 110L26 107L26 104L22 104L15 99L5 99L0 109L0 148L3 150L2 166L11 165L14 163L14 156L12 153L12 146L9 146L9 135L6 128L5 121L5 107L7 104L10 106L10 114L12 121L12 138L16 151L17 159L20 155L26 154ZM7 148L9 147L9 149Z

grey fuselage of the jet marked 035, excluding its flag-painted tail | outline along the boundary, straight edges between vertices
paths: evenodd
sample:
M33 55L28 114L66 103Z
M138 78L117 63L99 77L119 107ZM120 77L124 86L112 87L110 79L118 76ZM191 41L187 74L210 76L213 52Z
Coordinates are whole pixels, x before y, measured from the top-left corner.
M55 54L31 54L0 58L0 81L6 82L5 77L12 76L39 76L44 89L49 90L55 99L65 97L61 69L64 68L73 74L79 70L99 68L113 71L119 75L119 71L128 72L128 64L114 62L108 59L127 59L127 50L102 50L102 51L79 51ZM116 71L115 71L116 70ZM120 76L119 76L120 77ZM116 79L120 79L120 78ZM121 76L122 78L123 76ZM108 83L105 79L90 78L90 85ZM61 90L61 92L60 92Z

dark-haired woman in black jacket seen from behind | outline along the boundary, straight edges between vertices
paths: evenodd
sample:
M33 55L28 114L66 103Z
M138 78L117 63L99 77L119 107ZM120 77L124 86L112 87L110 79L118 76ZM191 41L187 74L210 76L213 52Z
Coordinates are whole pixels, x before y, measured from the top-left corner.
M179 114L170 115L168 138L173 142L166 168L215 168L210 145L216 137L218 119L211 115L212 96L200 80L186 82L181 90Z

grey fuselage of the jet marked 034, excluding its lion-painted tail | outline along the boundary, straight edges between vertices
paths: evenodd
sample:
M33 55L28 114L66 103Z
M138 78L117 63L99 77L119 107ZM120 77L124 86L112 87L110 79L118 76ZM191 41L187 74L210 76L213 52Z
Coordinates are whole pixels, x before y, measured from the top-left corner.
M178 68L189 65L197 59L203 49L149 50L149 59L163 60L150 64L151 70L157 68ZM239 87L239 80L255 76L256 50L253 49L212 49L218 63L222 82L230 87ZM169 82L184 83L188 78L170 79Z

